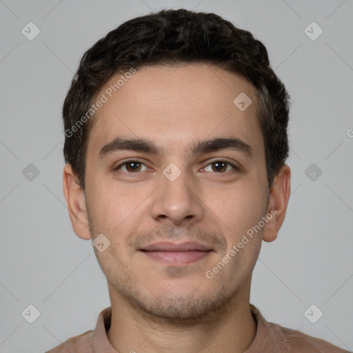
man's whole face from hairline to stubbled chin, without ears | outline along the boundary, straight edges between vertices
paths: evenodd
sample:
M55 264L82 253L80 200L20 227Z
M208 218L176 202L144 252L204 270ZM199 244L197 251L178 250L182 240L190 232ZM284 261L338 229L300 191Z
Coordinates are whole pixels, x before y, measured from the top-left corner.
M269 226L256 90L201 64L141 68L109 97L117 79L97 94L108 101L86 159L90 236L110 241L94 248L99 265L115 299L166 319L203 316L249 285ZM241 92L245 110L233 103Z

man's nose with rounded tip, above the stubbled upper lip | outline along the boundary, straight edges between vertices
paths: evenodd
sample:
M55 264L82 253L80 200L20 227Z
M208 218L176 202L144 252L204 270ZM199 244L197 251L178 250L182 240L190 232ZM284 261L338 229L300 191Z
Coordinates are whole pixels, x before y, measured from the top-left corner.
M203 217L205 205L200 183L185 170L174 180L168 174L161 174L161 185L153 197L152 216L159 222L181 225L195 223Z

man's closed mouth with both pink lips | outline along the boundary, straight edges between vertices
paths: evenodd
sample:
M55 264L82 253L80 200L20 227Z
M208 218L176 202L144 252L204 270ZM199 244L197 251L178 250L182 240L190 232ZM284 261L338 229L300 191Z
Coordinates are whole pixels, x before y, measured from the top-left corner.
M153 243L139 250L150 259L173 265L185 265L200 261L213 251L208 245L191 241L179 244L168 242Z

